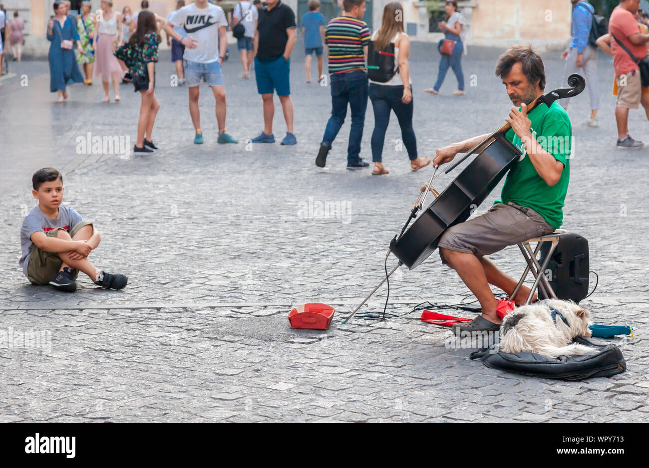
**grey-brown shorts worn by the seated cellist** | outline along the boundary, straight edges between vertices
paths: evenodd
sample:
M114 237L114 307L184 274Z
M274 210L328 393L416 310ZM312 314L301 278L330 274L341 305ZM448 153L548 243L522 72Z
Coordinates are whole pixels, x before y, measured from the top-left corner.
M509 202L498 203L484 215L451 226L442 234L438 247L483 257L524 240L554 232L545 218L532 208ZM441 250L442 263L447 261Z

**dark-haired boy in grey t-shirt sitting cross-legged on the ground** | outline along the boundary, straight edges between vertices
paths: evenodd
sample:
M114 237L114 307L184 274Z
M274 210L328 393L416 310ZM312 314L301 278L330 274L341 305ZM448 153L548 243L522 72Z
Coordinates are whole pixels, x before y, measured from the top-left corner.
M84 221L71 207L61 204L63 176L58 170L37 170L32 176L32 187L38 206L27 213L20 228L19 264L29 281L74 292L75 279L81 271L103 288L125 287L125 275L97 270L88 260L88 254L99 245L99 232L92 222Z

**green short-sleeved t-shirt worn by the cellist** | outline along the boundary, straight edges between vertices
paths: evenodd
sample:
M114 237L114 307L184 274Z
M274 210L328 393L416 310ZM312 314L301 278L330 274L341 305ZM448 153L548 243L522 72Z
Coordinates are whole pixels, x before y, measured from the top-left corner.
M536 172L525 146L510 128L505 137L520 149L522 155L507 174L500 194L502 202L496 200L496 203L513 202L530 207L556 229L563 223L561 208L568 191L572 125L568 113L556 101L549 108L546 104L539 104L530 112L528 119L532 122L530 131L536 141L557 161L563 163L561 178L550 187Z

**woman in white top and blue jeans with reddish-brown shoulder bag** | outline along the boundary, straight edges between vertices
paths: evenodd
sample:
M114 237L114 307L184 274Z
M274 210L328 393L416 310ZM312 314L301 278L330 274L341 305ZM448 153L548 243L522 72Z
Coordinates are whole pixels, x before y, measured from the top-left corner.
M446 21L439 21L437 26L444 32L443 40L456 41L453 46L453 53L450 55L442 54L439 59L439 71L437 72L437 81L432 88L424 89L426 93L439 94L444 78L446 77L448 67L453 69L456 78L458 78L458 89L451 94L454 96L464 94L464 73L462 71L462 53L464 45L462 42L462 27L466 25L466 21L461 13L458 12L458 2L456 0L448 0L444 8L447 14ZM441 41L440 41L441 44Z

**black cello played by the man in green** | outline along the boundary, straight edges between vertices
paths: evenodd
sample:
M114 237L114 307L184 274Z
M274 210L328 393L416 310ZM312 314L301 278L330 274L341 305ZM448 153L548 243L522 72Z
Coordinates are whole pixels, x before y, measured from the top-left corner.
M539 96L528 106L528 114L532 112L539 104L546 104L550 107L557 99L574 97L581 93L586 86L586 82L581 75L574 73L568 78L569 88L558 88L554 91ZM506 132L511 128L509 123L504 124L495 132L488 135L483 141L474 146L463 156L463 158L451 165L445 174L452 171L458 165L463 163L478 148L487 145L480 151L478 156L459 173L459 175L448 185L442 193L436 193L431 187L435 178L435 173L428 181L427 185L421 188L417 202L413 207L410 217L406 221L401 233L395 236L390 243L387 253L393 253L399 260L399 263L389 274L386 267L386 278L374 288L374 290L365 298L365 300L343 321L349 322L350 318L356 314L358 309L369 299L374 292L388 280L389 276L401 265L408 266L412 270L428 256L435 251L441 235L450 226L454 226L466 221L472 211L476 209L491 191L498 185L509 169L514 165L520 156L520 151L505 137ZM433 202L421 213L419 218L417 213L421 210L428 192L432 191L435 195ZM411 220L415 219L413 224L408 227ZM386 257L387 261L387 257ZM389 294L389 283L388 283ZM387 304L387 301L386 301Z

